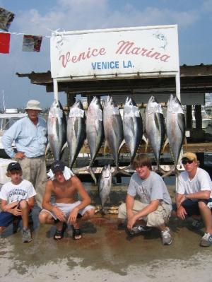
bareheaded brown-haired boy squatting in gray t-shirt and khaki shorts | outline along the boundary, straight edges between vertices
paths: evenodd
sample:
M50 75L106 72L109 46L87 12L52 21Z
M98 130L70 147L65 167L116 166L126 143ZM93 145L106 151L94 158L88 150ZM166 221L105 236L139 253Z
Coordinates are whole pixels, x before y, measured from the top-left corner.
M118 217L127 219L127 228L131 234L147 230L146 226L158 228L163 245L170 245L172 237L165 223L172 211L172 201L167 187L162 177L151 171L151 160L148 157L137 155L133 165L136 172L131 176L126 204L119 206ZM134 199L136 195L140 196L140 201Z

